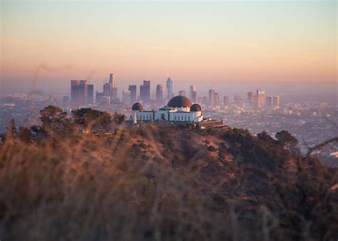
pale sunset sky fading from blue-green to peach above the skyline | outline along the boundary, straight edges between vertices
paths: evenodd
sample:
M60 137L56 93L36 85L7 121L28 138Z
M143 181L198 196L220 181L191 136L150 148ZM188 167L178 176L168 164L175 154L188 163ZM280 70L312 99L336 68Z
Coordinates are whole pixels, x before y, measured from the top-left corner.
M337 1L1 1L1 91L337 87ZM299 87L295 87L299 88ZM337 89L336 89L337 90Z

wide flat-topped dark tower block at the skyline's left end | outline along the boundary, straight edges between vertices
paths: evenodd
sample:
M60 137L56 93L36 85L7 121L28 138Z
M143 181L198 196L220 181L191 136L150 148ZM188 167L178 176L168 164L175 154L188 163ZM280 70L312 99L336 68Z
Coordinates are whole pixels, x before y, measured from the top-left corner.
M89 91L88 91L88 86ZM77 105L84 105L86 101L90 100L90 95L93 95L91 90L93 89L93 85L89 85L85 80L72 80L71 81L71 103ZM88 99L87 99L88 96ZM91 102L92 103L92 102Z

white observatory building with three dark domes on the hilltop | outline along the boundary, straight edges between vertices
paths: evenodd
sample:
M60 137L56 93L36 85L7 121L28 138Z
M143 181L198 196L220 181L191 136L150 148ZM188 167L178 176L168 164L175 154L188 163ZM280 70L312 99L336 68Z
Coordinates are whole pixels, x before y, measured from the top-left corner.
M171 98L167 106L158 109L158 111L145 111L141 103L134 103L131 109L133 123L137 123L137 120L167 120L200 123L203 120L200 105L197 103L193 104L190 99L185 96L175 96Z

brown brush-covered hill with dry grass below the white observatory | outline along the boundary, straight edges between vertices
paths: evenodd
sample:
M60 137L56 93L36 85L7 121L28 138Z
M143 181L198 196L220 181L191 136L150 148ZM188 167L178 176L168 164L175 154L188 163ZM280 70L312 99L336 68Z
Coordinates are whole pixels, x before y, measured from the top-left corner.
M6 138L1 240L337 240L337 169L287 134L133 126Z

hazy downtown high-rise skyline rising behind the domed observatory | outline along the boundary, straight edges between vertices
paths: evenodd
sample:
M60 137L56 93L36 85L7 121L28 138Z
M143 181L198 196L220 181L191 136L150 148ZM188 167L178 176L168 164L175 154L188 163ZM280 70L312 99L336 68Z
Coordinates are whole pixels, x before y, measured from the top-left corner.
M151 81L143 80L140 86L135 84L129 85L128 90L122 91L122 98L118 96L118 88L116 87L114 74L109 75L108 83L103 84L102 92L96 91L95 103L97 105L108 106L111 104L122 104L123 106L131 106L133 103L140 102L143 105L163 106L174 96L188 97L192 103L199 103L210 110L222 108L244 108L262 110L266 108L279 108L280 96L266 96L265 91L257 89L257 91L247 92L247 98L235 93L233 98L230 96L220 96L215 89L208 90L208 96L198 96L196 86L189 86L189 93L185 90L173 91L173 81L168 77L165 81L165 88L158 83L155 87L155 98L151 98ZM71 81L71 103L73 105L87 105L94 103L93 84L87 81ZM64 96L63 103L69 101L68 96Z

